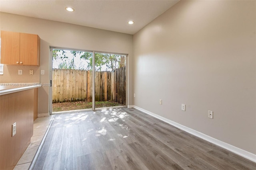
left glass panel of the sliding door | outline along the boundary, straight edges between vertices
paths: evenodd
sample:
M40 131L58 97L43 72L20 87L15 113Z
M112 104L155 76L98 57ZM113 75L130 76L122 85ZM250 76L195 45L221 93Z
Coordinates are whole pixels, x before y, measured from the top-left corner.
M92 52L52 49L52 113L92 109Z

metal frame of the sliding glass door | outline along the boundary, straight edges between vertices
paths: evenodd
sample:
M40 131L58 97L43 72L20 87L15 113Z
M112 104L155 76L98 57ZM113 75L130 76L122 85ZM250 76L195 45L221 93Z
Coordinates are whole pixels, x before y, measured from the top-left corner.
M103 51L89 51L89 50L81 50L81 49L70 49L70 48L63 48L63 47L53 47L50 46L50 61L49 61L49 82L51 83L50 90L49 90L49 114L52 115L52 50L53 49L60 49L60 50L70 50L70 51L83 51L92 53L92 111L95 111L95 53L105 53L105 54L114 54L114 55L125 55L126 56L126 106L128 106L128 81L129 81L129 74L128 74L128 54L122 53L110 53L110 52L103 52Z

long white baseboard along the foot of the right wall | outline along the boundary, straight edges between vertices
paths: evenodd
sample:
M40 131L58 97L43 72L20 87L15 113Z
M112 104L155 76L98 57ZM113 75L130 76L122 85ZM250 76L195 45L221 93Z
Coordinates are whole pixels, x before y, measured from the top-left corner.
M208 135L205 135L204 133L198 132L198 131L196 131L196 130L194 130L194 129L190 129L189 127L186 127L186 126L184 126L184 125L180 125L179 123L176 123L176 122L174 122L174 121L171 121L171 120L169 120L169 119L166 119L166 118L164 118L164 117L162 117L162 116L160 116L160 115L157 115L157 114L155 114L155 113L152 113L152 112L150 112L150 111L147 111L147 110L145 110L145 109L142 109L142 108L140 108L140 107L138 107L138 106L134 106L134 105L128 106L128 108L131 108L131 107L134 107L135 109L138 109L138 110L140 110L140 111L142 111L142 112L144 112L144 113L147 113L148 115L151 115L151 116L153 116L153 117L156 117L157 119L160 119L160 120L162 120L162 121L165 121L166 123L169 123L170 125L173 125L173 126L175 126L175 127L178 127L179 129L182 129L183 131L186 131L186 132L188 132L188 133L190 133L190 134L192 134L192 135L194 135L194 136L196 136L196 137L200 137L201 139L204 139L204 140L206 140L206 141L208 141L208 142L210 142L210 143L213 143L213 144L215 144L215 145L218 145L219 147L222 147L222 148L227 149L227 150L229 150L229 151L231 151L231 152L234 152L235 154L238 154L238 155L240 155L240 156L242 156L242 157L244 157L244 158L246 158L246 159L248 159L248 160L251 160L251 161L253 161L253 162L256 162L256 154L253 154L253 153L248 152L248 151L246 151L246 150L240 149L240 148L238 148L238 147L234 147L233 145L230 145L230 144L228 144L228 143L222 142L222 141L220 141L220 140L218 140L218 139L215 139L215 138L213 138L213 137L210 137L210 136L208 136Z

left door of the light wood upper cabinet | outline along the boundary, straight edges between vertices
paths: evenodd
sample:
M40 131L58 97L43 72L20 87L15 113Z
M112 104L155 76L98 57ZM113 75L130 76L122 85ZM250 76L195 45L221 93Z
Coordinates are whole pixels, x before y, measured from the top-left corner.
M18 62L18 63L17 63ZM20 33L1 31L1 64L20 63Z

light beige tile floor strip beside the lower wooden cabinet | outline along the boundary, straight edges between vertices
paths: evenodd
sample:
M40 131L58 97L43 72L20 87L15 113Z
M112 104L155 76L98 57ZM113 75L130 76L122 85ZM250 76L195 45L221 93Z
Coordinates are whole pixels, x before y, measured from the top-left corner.
M28 146L28 149L24 152L19 162L15 166L14 170L27 170L32 162L34 155L36 154L36 150L40 145L44 134L52 121L54 115L50 115L49 117L38 117L34 121L34 129L33 136L31 137L31 143Z

